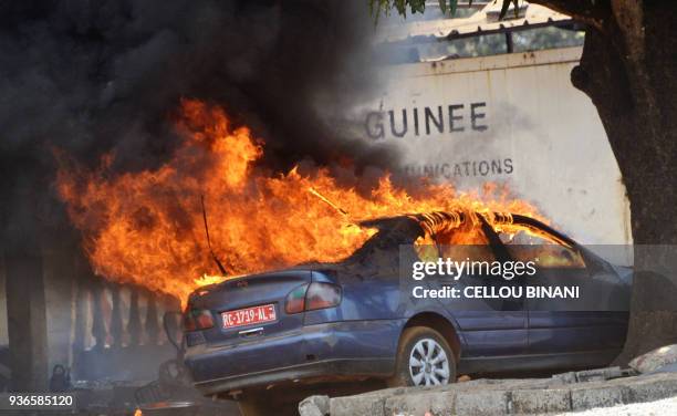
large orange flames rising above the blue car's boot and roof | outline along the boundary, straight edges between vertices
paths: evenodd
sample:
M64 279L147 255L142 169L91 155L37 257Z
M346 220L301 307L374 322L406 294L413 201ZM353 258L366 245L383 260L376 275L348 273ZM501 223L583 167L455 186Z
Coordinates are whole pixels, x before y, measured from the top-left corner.
M233 127L221 108L186 100L180 114L184 142L155 170L111 175L113 155L94 171L61 160L59 195L97 274L181 300L221 281L205 238L202 196L213 250L233 274L345 258L374 232L355 226L361 219L454 209L535 215L493 184L457 193L421 183L412 195L384 176L364 196L324 168L271 176L254 166L262 142Z

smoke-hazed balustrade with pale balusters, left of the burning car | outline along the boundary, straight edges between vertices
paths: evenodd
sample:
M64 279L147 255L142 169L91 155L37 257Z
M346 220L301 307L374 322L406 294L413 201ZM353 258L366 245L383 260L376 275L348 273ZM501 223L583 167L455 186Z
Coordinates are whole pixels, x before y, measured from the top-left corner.
M91 275L79 279L72 326L73 375L77 379L153 379L176 355L163 315L179 311L178 299ZM177 316L168 320L178 334Z

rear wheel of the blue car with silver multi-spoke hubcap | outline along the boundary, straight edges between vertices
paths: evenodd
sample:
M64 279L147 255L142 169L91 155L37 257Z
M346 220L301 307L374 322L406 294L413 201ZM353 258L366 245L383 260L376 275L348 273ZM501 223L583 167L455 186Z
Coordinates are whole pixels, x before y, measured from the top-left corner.
M447 340L427 326L404 330L397 347L395 374L388 387L433 386L456 382L456 355Z

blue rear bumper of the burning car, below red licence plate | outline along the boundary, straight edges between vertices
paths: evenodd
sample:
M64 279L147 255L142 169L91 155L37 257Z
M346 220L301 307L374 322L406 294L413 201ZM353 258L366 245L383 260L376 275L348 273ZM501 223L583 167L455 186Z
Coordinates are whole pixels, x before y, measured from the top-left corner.
M185 362L205 395L284 382L386 377L395 368L398 320L306 325L235 345L188 349Z

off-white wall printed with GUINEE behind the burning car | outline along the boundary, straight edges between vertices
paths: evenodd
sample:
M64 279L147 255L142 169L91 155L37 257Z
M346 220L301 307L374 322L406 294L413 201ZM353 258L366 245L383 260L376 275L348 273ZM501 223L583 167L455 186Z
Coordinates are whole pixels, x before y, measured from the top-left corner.
M410 175L460 189L508 184L581 242L629 243L617 163L594 105L570 81L581 52L393 65L352 117L366 141L397 146Z

